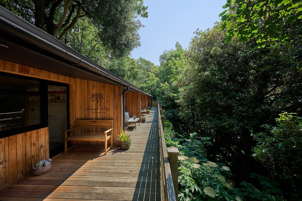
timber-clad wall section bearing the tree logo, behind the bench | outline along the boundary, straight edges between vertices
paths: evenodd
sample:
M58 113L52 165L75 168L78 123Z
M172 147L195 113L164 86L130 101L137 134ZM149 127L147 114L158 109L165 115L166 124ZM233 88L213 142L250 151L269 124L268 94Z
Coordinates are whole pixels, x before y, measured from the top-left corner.
M117 134L122 127L122 88L104 83L76 79L75 100L76 119L107 119L113 122L113 146L119 146ZM82 130L83 133L104 132L105 128L91 128ZM104 146L104 142L78 142L79 146ZM110 146L110 143L109 143Z

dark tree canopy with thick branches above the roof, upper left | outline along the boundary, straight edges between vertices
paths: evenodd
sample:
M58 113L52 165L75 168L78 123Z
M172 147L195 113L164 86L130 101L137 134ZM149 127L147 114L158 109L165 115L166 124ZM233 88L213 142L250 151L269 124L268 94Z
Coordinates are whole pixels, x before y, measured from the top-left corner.
M148 17L143 0L2 0L0 5L62 40L79 19L89 18L103 46L129 55L140 46L137 16Z

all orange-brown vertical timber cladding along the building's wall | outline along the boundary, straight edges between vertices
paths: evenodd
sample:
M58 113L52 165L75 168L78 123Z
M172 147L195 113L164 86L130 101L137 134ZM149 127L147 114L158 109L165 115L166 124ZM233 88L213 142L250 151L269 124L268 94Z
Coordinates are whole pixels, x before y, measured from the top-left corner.
M113 119L113 146L120 145L116 138L123 117L121 86L66 77L0 59L1 72L68 83L70 127L74 126L76 119ZM139 117L140 93L126 94L131 94L131 98L128 96L129 100L126 100L129 111ZM104 132L104 129L94 128L83 132ZM48 127L0 139L0 188L30 172L40 159L48 159L48 144ZM79 146L84 145L104 146L104 142L79 142Z

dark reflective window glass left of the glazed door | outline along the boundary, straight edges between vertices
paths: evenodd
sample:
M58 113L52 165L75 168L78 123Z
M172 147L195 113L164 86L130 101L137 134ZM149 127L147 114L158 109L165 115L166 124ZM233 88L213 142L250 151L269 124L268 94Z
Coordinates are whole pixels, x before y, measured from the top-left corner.
M40 124L39 82L0 76L0 133Z

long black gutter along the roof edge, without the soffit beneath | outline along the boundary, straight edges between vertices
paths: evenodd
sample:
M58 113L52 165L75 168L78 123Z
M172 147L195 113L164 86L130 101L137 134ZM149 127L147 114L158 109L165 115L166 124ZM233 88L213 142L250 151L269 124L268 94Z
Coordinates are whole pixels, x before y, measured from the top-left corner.
M21 19L10 11L0 6L0 29L9 33L15 37L18 37L26 42L33 44L34 46L40 47L48 52L58 55L68 61L74 63L73 66L79 65L90 71L93 71L100 75L100 77L116 83L122 87L129 87L131 90L138 93L150 96L146 92L138 89L136 86L127 82L126 80L118 77L107 69L101 67L99 64L65 45L61 41L57 40L48 33L40 30L34 25Z

